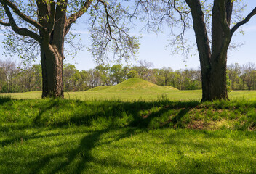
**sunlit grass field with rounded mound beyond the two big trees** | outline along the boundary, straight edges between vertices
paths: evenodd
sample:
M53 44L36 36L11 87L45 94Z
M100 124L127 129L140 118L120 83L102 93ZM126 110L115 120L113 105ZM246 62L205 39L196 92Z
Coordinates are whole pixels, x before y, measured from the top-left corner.
M231 91L230 99L256 100L256 91ZM0 94L13 99L41 99L41 91L27 93ZM65 99L79 100L116 100L121 101L155 101L162 97L171 101L200 101L201 90L179 91L171 86L156 86L141 79L129 79L117 86L99 86L89 91L67 92Z

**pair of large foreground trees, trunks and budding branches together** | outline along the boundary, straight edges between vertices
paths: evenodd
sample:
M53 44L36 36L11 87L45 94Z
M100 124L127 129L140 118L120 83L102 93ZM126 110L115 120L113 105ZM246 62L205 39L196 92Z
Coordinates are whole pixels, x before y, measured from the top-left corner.
M118 0L87 1L9 1L0 0L0 24L9 30L4 42L12 50L40 51L43 78L42 97L63 97L64 43L76 20L89 17L92 56L104 59L113 50L120 58L129 59L138 49L137 38L129 36L127 22L139 18L148 30L159 32L166 24L175 36L176 52L188 52L185 33L192 28L196 35L202 81L202 101L228 99L227 51L233 33L256 14L256 8L241 17L242 1L235 0L135 0L128 4ZM236 3L234 5L234 3ZM241 9L236 9L241 7ZM132 12L133 11L133 12ZM233 15L232 15L233 14ZM193 25L191 25L193 21ZM173 32L173 28L180 33ZM112 44L111 44L112 43ZM20 48L21 47L21 48ZM185 51L184 51L185 50Z

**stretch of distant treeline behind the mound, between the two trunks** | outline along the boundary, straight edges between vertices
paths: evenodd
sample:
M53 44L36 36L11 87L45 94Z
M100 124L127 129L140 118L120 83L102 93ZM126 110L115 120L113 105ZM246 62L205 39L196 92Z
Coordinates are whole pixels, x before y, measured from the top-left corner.
M98 65L90 70L76 70L74 65L65 65L63 70L65 91L85 91L96 86L112 86L128 78L142 78L160 86L173 86L180 90L200 89L200 70L177 70L170 67L148 68L145 65L133 67L121 65Z

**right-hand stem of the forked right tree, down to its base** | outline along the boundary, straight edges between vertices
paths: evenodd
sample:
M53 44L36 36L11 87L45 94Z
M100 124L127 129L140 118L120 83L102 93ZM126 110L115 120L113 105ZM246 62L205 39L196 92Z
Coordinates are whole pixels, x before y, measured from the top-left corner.
M233 4L230 0L223 2L225 12L220 7L219 0L215 0L212 9L212 70L211 70L211 97L208 100L224 99L228 100L228 90L226 82L227 72L227 51L231 41L230 21ZM223 24L222 19L226 20Z

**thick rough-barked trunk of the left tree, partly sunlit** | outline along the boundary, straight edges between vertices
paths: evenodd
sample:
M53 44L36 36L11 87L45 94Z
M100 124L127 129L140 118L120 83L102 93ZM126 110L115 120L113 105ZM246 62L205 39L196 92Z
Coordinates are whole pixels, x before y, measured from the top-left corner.
M41 46L41 69L43 78L44 97L64 97L63 89L63 60L64 60L64 38L66 33L66 6L67 0L63 0L56 9L45 8L44 4L38 4L41 7L39 17L52 15L52 20L39 20L45 30L40 31ZM55 7L55 4L52 4Z

